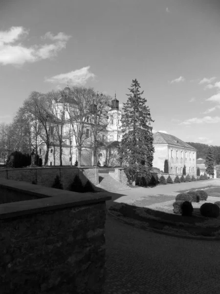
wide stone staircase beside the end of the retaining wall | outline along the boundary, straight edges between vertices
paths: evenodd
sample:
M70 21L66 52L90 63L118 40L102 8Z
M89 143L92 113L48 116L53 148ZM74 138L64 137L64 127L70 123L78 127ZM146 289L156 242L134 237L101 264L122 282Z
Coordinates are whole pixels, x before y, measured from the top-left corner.
M130 187L116 181L109 173L99 173L99 188L108 192L117 192L131 189Z

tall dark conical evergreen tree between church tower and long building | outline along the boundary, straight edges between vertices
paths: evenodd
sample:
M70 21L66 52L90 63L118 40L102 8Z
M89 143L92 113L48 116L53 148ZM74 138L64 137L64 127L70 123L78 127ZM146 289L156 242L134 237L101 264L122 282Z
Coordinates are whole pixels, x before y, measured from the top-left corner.
M142 176L150 176L154 159L153 133L150 109L146 106L147 99L142 98L138 81L132 80L128 100L123 103L121 117L122 141L121 155L127 165L130 182L135 182L136 172Z

